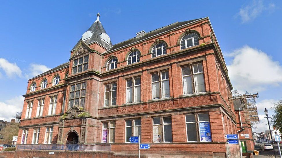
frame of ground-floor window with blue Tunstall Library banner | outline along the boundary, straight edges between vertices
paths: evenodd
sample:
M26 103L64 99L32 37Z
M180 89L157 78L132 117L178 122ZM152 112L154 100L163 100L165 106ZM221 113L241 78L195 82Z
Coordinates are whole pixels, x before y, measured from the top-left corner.
M203 123L203 122L210 122L210 118L209 118L209 121L199 121L199 114L208 114L209 116L209 113L194 113L194 114L186 114L186 115L196 115L195 117L195 121L190 121L190 122L187 122L186 120L186 115L185 115L185 129L186 129L186 141L187 142L201 142L201 133L200 133L200 123ZM188 133L187 133L187 123L196 123L196 131L197 131L197 141L188 141ZM204 141L203 141L204 142Z

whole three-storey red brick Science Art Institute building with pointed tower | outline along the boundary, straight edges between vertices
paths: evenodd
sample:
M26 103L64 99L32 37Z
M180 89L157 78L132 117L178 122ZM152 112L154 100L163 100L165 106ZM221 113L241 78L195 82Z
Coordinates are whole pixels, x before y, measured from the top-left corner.
M111 144L152 157L238 157L227 67L209 18L112 45L97 20L64 63L28 80L17 144ZM177 157L177 156L176 156Z

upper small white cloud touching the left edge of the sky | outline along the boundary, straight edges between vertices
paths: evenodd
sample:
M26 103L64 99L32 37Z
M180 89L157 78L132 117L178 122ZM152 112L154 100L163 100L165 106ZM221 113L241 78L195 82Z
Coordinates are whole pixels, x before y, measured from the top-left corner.
M0 69L6 73L6 75L10 78L15 76L22 76L22 71L18 67L16 63L10 63L8 60L4 58L0 58Z

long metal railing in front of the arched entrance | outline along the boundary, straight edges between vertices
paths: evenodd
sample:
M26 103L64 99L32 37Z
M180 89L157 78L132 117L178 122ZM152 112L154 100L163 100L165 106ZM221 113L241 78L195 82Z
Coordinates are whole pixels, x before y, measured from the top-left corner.
M21 144L17 150L111 151L111 144Z

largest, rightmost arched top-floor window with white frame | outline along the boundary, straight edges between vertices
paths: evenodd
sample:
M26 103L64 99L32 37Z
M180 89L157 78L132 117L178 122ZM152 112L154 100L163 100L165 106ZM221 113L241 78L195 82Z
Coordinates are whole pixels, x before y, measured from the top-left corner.
M192 47L195 45L199 45L198 35L196 33L189 33L182 37L180 44L181 44L181 50Z

